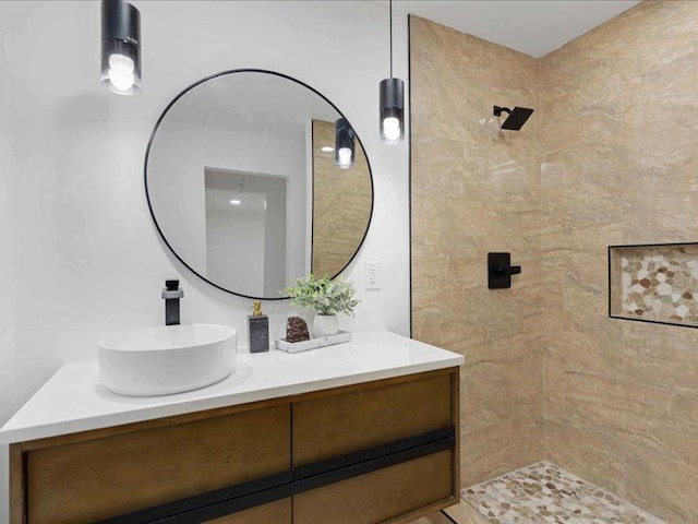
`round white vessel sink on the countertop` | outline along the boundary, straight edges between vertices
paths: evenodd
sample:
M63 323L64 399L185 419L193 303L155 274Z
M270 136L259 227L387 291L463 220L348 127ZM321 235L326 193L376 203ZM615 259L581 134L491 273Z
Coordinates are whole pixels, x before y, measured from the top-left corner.
M218 382L236 368L238 331L228 325L163 325L99 342L99 376L122 395L181 393Z

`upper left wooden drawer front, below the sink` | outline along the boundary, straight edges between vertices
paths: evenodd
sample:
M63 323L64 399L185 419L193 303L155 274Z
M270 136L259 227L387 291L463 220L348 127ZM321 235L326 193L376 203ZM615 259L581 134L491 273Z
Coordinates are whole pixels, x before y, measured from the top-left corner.
M93 522L289 468L289 405L32 450L28 523Z

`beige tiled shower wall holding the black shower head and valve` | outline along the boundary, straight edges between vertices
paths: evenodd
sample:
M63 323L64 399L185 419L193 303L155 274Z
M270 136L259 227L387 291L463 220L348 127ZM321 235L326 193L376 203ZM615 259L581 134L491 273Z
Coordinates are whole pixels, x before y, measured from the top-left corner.
M538 129L492 132L494 105L539 107L526 55L410 17L412 335L461 353L461 481L543 456ZM488 290L489 251L524 267Z

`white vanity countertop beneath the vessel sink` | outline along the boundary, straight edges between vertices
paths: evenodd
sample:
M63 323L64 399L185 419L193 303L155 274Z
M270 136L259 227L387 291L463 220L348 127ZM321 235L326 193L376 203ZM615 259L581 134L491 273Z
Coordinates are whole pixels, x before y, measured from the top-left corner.
M304 353L238 354L227 379L186 393L122 396L99 383L97 361L68 364L0 429L0 443L74 433L340 385L460 366L461 355L380 331Z

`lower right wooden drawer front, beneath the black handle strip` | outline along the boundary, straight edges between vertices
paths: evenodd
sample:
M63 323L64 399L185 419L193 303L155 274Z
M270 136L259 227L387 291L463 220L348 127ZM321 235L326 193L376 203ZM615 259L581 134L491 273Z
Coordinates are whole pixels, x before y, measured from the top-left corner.
M377 524L452 500L446 450L293 497L293 524Z

